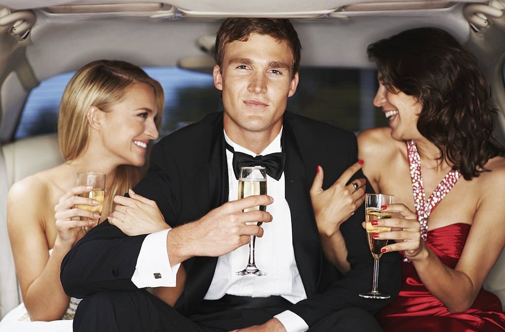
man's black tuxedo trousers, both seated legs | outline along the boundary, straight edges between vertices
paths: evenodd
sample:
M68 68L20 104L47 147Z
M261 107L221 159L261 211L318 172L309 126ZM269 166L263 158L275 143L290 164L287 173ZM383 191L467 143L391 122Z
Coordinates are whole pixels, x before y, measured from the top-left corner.
M237 297L240 298L240 297ZM261 301L261 300L260 300ZM260 301L257 304L260 304ZM189 318L147 291L98 292L79 303L74 332L215 332L262 324L289 308L274 299L263 308L228 308L245 299L204 301L203 313ZM212 310L215 307L216 310ZM360 308L342 309L325 317L309 332L380 332L375 318Z

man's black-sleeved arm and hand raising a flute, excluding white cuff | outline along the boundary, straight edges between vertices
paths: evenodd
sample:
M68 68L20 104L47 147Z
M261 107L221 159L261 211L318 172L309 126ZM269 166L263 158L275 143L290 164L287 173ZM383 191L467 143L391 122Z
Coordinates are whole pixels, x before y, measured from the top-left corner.
M272 202L267 195L249 196L225 203L197 221L172 229L164 247L170 264L193 256L220 256L247 244L251 235L263 236L263 228L246 223L271 222L272 216L260 210L242 211ZM126 236L108 222L95 227L62 262L65 292L84 297L104 290L138 289L131 279L146 236Z

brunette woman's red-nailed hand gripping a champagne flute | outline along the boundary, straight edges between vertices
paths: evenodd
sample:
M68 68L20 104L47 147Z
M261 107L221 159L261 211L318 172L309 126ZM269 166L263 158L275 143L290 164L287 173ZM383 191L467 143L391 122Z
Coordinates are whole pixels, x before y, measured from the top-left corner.
M408 259L418 259L424 247L421 239L421 226L417 215L404 204L389 204L381 207L382 211L393 212L393 218L372 220L372 225L377 227L391 227L390 232L373 233L374 239L395 240L382 248L382 252L403 251ZM398 217L396 217L398 216Z

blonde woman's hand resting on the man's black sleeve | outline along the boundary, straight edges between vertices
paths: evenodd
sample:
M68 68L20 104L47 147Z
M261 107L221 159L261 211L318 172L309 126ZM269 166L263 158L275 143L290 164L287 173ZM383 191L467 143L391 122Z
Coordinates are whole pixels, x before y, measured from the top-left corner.
M130 197L116 196L116 208L109 216L109 223L129 236L150 234L171 228L155 201L128 190Z

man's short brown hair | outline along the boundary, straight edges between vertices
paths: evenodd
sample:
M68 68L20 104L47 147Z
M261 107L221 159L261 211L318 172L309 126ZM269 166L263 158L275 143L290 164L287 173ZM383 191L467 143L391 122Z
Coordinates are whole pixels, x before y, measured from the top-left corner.
M291 75L298 73L301 57L301 44L298 34L288 19L229 18L225 20L216 36L214 59L222 67L224 47L235 40L247 41L251 33L270 36L279 41L286 41L293 52Z

